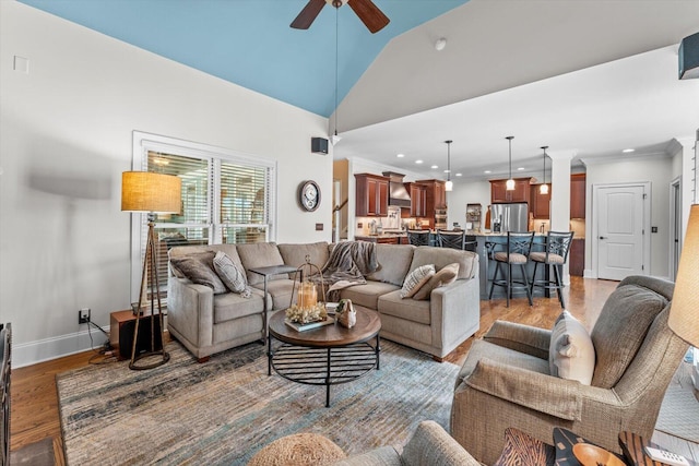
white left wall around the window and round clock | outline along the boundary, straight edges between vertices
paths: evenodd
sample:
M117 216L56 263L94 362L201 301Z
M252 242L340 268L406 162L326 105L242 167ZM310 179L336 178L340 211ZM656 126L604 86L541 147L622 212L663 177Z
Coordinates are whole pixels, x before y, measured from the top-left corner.
M107 326L129 307L120 177L134 130L277 160L276 240L331 240L332 156L310 153L325 118L15 1L0 1L0 321L15 366L82 350L79 308ZM296 202L307 179L323 193L315 213Z

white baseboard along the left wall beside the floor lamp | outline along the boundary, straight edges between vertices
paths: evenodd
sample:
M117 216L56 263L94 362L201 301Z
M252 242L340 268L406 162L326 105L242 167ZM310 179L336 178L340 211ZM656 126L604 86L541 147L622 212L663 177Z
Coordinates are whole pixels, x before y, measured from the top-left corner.
M109 326L104 328L107 334ZM92 335L92 342L90 336ZM96 328L70 333L35 342L12 345L12 367L23 368L38 362L50 361L76 353L99 348L107 342L107 336Z

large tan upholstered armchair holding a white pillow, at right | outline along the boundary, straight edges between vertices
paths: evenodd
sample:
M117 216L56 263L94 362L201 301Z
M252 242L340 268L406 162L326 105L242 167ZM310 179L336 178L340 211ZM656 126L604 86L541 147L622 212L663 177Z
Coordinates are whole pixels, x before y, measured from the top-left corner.
M549 444L553 428L562 427L615 452L620 431L650 439L687 350L667 326L673 288L647 276L619 283L585 333L596 355L593 365L580 361L591 365L589 385L553 375L569 343L560 346L558 324L549 331L497 321L474 342L458 375L451 435L485 464L500 455L509 427Z

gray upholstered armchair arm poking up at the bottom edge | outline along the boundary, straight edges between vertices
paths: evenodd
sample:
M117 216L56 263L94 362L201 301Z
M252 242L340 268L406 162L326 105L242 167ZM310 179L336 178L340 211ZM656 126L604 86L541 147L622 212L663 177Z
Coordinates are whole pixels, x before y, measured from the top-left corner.
M407 466L481 466L441 426L426 420L408 440L401 455Z

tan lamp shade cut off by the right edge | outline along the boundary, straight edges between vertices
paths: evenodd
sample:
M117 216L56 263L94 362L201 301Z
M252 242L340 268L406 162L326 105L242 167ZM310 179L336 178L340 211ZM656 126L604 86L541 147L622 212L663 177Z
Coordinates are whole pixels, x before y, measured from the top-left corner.
M699 204L689 211L667 324L682 339L699 347Z

